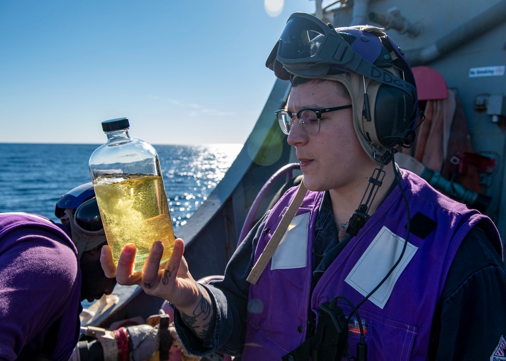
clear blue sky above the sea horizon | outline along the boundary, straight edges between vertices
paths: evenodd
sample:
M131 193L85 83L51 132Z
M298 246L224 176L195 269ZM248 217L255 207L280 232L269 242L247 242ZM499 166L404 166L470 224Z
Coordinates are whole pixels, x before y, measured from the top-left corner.
M0 1L0 143L101 144L123 116L152 144L244 143L286 20L315 11L265 1Z

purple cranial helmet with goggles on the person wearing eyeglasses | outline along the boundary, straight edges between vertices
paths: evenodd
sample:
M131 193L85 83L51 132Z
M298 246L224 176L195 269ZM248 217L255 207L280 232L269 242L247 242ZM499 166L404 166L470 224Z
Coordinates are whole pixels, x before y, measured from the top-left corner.
M266 66L282 80L300 76L343 83L351 97L357 137L376 163L388 164L394 147L409 147L414 141L414 76L383 29L334 29L313 15L294 13Z

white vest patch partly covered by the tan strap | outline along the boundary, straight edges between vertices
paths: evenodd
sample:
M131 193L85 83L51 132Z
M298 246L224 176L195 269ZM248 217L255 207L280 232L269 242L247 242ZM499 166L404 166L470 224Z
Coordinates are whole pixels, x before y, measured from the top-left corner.
M272 255L271 270L306 267L310 212L293 217Z

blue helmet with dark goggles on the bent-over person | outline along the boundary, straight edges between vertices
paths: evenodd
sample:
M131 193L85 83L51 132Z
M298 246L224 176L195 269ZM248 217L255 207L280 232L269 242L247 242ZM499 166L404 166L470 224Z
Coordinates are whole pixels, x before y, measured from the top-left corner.
M68 191L56 202L55 215L70 229L79 258L107 241L91 182Z

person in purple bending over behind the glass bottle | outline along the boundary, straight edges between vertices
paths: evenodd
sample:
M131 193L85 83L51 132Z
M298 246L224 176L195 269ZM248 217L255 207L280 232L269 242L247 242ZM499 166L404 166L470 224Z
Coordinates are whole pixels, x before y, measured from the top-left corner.
M0 213L0 359L68 360L79 336L81 300L116 284L100 265L107 243L91 183L57 202L61 223Z

